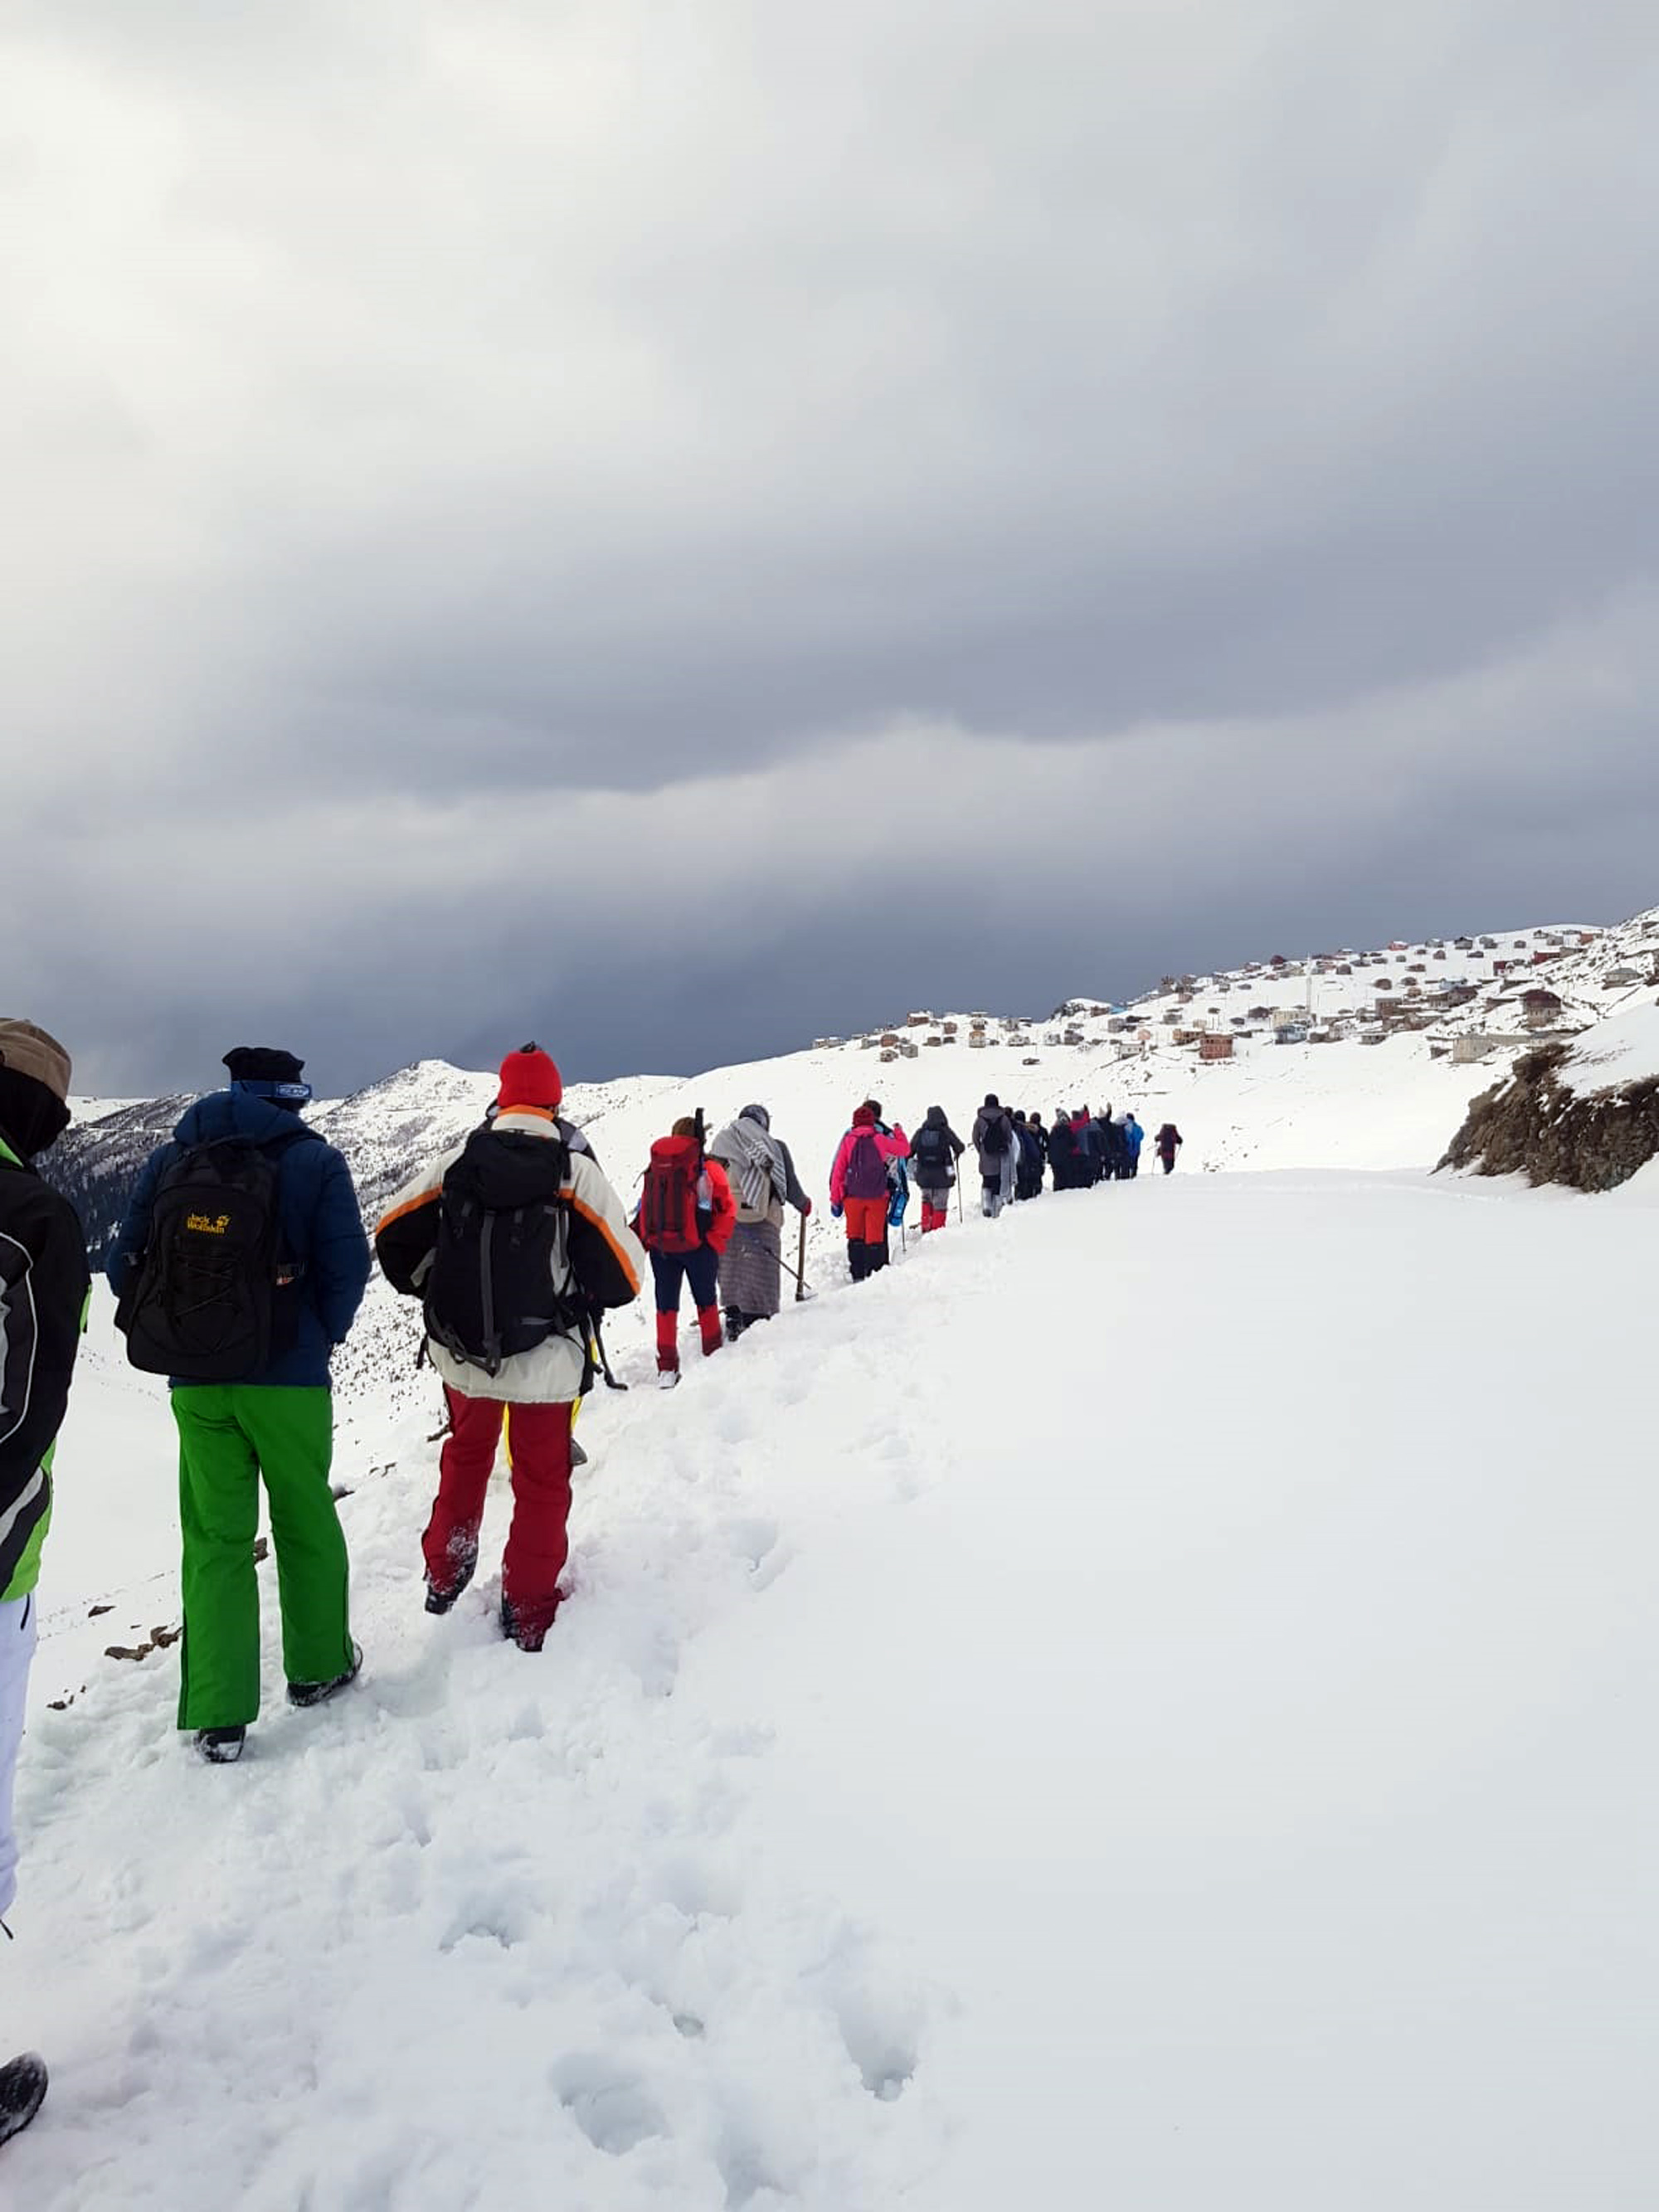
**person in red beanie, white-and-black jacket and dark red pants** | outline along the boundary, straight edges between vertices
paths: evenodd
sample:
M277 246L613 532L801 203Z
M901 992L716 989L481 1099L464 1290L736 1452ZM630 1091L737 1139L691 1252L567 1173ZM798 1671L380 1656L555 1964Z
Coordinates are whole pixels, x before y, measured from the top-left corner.
M571 1420L593 1383L599 1314L639 1296L646 1254L586 1152L560 1137L560 1071L538 1044L500 1066L495 1117L387 1208L374 1250L394 1290L425 1301L427 1354L449 1407L438 1495L420 1537L427 1613L449 1613L478 1566L484 1491L513 1409L513 1520L500 1624L538 1652L568 1559ZM509 1232L495 1234L507 1221ZM606 1371L608 1380L608 1371Z

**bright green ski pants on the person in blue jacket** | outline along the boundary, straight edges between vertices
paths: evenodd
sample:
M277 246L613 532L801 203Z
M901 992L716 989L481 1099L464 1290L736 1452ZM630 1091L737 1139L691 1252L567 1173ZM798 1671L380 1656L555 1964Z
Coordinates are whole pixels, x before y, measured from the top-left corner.
M184 1526L179 1728L246 1728L259 1714L259 1478L283 1608L283 1672L332 1681L352 1666L345 1531L327 1471L327 1389L190 1383L173 1391Z

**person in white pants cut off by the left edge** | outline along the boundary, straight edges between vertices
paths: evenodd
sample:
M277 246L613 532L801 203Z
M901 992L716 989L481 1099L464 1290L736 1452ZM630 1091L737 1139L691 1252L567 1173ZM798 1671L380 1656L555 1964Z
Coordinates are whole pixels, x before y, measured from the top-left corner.
M0 1020L0 1918L18 1896L11 1798L51 1464L91 1290L75 1208L33 1168L66 1126L69 1053L33 1022ZM33 2051L0 2066L0 2143L29 2126L44 2095Z

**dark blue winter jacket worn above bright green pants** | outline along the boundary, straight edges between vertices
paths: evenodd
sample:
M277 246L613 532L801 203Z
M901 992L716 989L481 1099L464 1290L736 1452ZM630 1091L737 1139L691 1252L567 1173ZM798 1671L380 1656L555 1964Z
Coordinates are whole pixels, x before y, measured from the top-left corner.
M150 1152L126 1208L108 1261L119 1298L150 1239L155 1186L195 1144L248 1137L265 1144L303 1128L296 1115L248 1091L215 1091L188 1108L173 1141ZM283 1256L299 1263L299 1329L290 1347L248 1383L288 1389L327 1389L327 1360L345 1343L369 1281L369 1239L352 1188L352 1170L332 1144L301 1137L276 1155L276 1214Z

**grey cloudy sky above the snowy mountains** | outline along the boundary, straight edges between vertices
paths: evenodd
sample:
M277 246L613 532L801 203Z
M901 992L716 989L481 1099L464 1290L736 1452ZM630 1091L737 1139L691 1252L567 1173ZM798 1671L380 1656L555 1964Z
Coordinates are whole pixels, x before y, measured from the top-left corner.
M86 1088L1659 902L1659 15L11 0L7 1000Z

